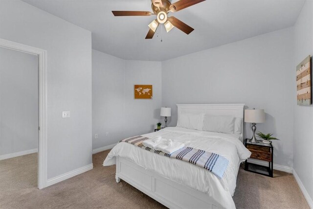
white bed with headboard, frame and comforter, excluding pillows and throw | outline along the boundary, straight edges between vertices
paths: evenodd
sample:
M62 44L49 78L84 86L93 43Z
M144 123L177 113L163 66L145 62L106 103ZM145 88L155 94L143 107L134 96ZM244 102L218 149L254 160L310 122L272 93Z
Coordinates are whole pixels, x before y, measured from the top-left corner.
M222 179L191 163L166 158L133 144L121 142L112 148L104 166L116 164L120 179L168 208L235 208L232 195L240 163L250 157L243 145L244 104L178 104L178 126L142 136L182 141L185 146L219 154L228 160ZM179 127L188 114L241 118L236 133L218 133Z

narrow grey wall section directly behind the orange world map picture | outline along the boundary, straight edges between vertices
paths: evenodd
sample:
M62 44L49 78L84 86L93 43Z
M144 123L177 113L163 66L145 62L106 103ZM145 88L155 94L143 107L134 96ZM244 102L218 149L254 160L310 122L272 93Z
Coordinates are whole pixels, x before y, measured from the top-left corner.
M153 132L160 120L161 63L125 61L125 136ZM153 99L134 99L134 84L152 84Z

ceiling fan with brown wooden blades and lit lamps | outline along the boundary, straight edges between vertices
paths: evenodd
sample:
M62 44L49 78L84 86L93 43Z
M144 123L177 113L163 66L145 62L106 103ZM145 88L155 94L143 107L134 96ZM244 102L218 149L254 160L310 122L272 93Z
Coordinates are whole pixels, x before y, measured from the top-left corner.
M152 12L149 11L112 11L114 16L150 16L156 15L156 20L152 21L149 26L149 32L146 39L152 39L156 28L159 24L164 24L167 32L177 27L182 32L189 34L194 28L181 22L179 19L171 16L168 17L169 12L177 12L179 10L185 9L189 6L195 5L205 0L179 0L173 4L169 0L152 0L151 8Z

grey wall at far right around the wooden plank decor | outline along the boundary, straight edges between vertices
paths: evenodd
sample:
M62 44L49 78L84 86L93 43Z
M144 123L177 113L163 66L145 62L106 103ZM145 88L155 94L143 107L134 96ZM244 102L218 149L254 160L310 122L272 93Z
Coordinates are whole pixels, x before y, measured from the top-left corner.
M295 56L292 75L295 77L296 66L308 55L313 55L312 0L305 2L295 23L294 33ZM295 79L292 85L294 86L292 91L294 109L293 168L313 199L313 105L298 106L296 102Z

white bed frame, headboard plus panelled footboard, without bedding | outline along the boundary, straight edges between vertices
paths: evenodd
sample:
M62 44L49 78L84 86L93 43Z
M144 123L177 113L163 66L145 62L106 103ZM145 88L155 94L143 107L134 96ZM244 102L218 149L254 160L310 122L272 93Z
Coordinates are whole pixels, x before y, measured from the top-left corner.
M244 106L245 104L177 104L178 119L180 113L206 113L243 118ZM118 183L121 179L171 209L222 208L215 199L203 192L164 178L125 158L116 157L115 180Z

